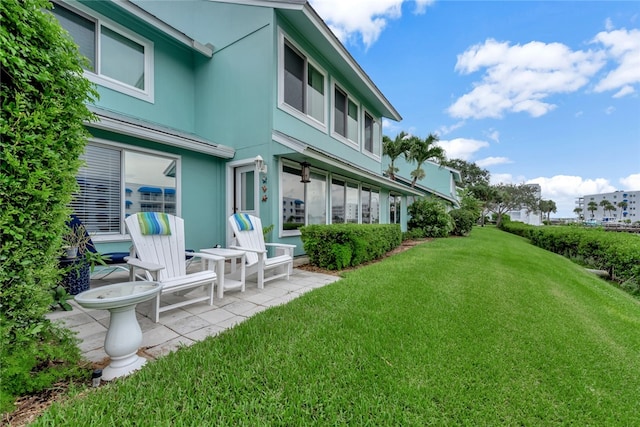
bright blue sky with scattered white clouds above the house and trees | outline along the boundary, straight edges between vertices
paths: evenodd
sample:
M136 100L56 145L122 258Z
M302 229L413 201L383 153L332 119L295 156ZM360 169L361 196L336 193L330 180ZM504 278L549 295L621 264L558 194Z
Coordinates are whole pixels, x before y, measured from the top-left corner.
M640 190L640 2L311 0L403 117L492 183Z

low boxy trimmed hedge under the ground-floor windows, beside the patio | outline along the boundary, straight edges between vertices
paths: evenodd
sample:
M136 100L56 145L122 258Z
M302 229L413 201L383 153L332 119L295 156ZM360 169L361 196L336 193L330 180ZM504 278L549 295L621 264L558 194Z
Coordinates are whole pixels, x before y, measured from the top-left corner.
M340 270L382 257L400 246L398 224L331 224L300 228L309 263Z

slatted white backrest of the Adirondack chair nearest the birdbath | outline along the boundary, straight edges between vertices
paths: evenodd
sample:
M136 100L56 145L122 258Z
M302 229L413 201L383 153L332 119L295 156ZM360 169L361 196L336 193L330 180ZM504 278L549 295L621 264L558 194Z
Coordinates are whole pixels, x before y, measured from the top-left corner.
M159 281L186 275L184 220L167 214L171 234L142 234L138 219L140 215L133 214L124 220L137 258L164 266L158 273Z

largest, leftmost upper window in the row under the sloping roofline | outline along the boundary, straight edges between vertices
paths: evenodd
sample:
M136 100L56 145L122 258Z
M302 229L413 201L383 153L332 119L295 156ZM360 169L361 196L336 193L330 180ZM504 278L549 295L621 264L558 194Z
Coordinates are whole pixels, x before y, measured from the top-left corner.
M297 49L284 42L284 102L324 123L324 75Z

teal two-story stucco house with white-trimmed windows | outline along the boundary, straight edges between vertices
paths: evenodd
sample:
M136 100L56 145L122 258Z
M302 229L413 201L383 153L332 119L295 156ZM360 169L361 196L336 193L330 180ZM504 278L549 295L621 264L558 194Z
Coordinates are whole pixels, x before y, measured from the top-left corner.
M406 230L416 197L457 205L456 171L383 175L382 120L401 116L306 1L53 4L100 93L73 208L102 251L128 249L139 211L183 217L194 249L249 212L298 255L305 224Z

